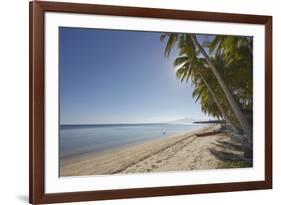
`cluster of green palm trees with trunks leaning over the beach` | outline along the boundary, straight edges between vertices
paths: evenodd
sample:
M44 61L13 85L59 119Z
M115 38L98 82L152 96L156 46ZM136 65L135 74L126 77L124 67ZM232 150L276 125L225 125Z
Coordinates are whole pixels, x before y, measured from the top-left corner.
M204 38L199 42L198 38ZM205 114L222 120L244 136L246 158L252 155L252 38L246 36L165 33L165 56L173 48L176 76L194 86L193 97Z

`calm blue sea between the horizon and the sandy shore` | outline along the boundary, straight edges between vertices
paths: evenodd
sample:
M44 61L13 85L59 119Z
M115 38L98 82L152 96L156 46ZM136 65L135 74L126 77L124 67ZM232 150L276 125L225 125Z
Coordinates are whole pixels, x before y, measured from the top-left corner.
M60 158L164 138L203 126L206 124L61 125Z

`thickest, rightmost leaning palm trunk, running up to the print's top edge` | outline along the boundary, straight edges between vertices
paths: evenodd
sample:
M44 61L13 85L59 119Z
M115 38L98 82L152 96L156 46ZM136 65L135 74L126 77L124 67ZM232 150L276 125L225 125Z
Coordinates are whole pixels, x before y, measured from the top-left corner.
M242 111L240 110L239 106L237 105L237 103L235 102L230 90L228 89L228 87L226 86L221 74L218 72L216 66L211 62L208 54L206 53L206 51L203 49L203 47L199 44L199 42L197 41L197 38L195 35L191 35L191 39L193 41L193 43L196 45L196 47L200 50L201 54L205 57L210 69L212 70L213 74L215 75L215 77L217 78L225 96L226 99L229 102L229 105L233 111L233 113L235 114L235 116L237 117L239 123L241 124L245 134L246 134L246 139L247 139L247 143L252 145L252 129L250 124L248 123L247 119L245 118L245 116L243 115ZM251 147L251 146L248 146Z

